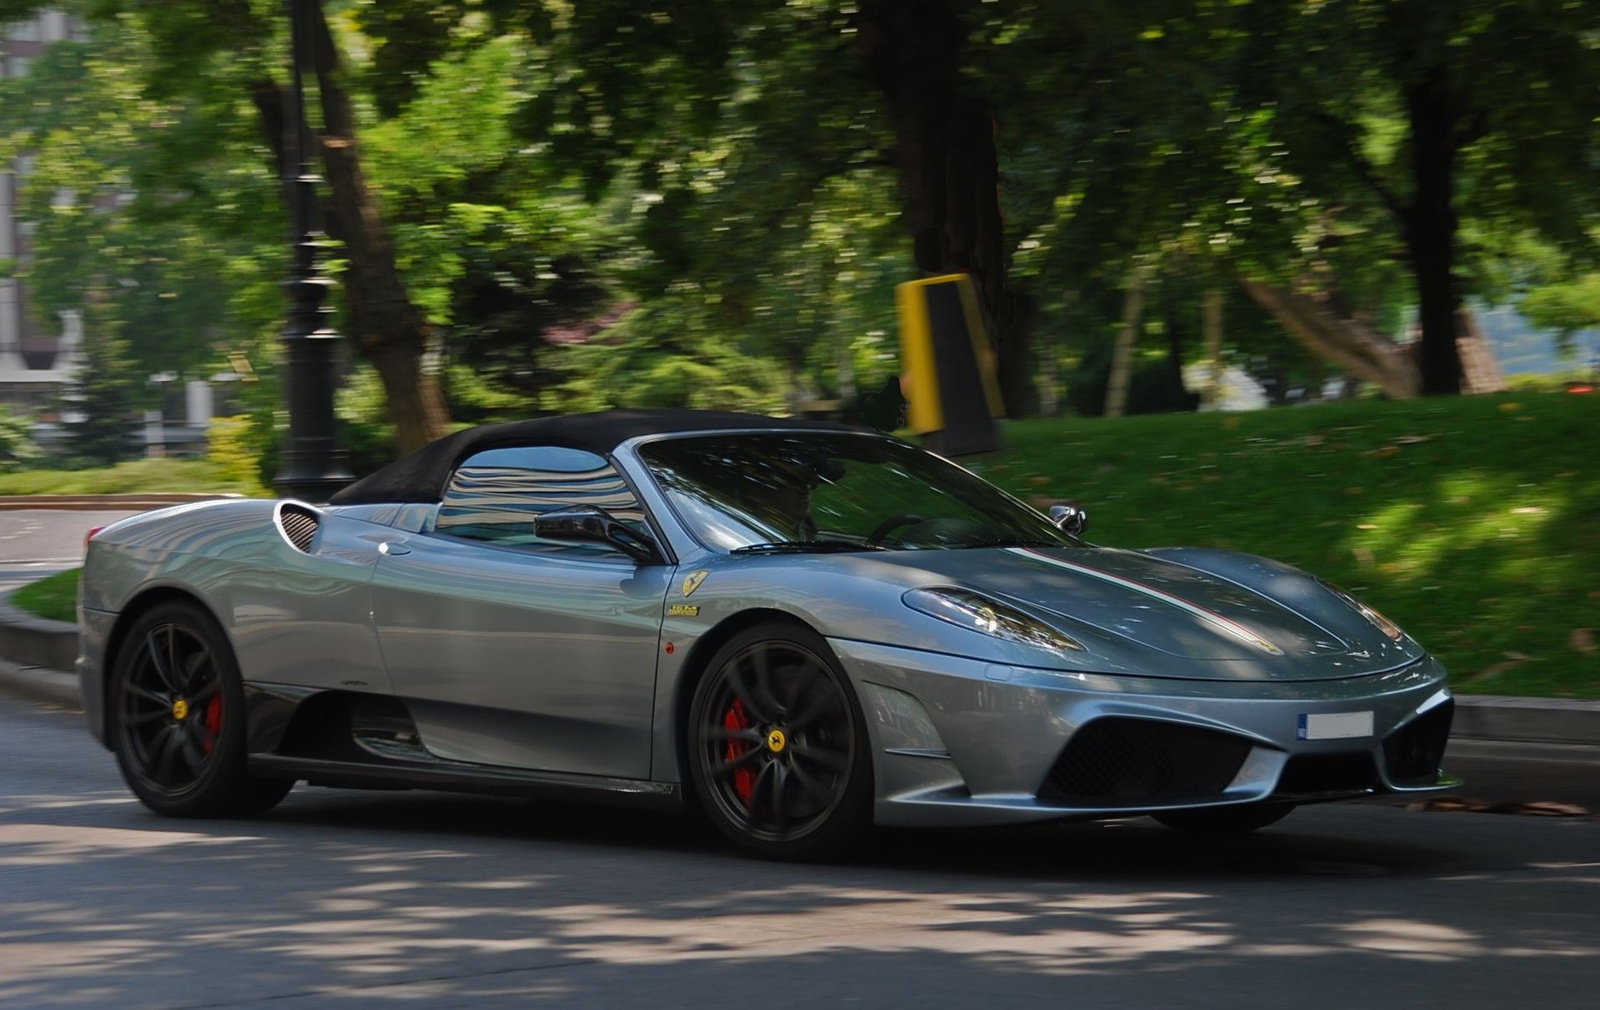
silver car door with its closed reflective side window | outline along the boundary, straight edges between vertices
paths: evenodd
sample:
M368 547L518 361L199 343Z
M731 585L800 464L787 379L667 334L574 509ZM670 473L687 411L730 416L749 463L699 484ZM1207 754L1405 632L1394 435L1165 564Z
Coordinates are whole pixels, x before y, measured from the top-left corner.
M386 546L373 579L384 664L438 757L650 776L672 568L534 535L536 514L574 504L645 528L603 456L510 447L462 461L430 527Z

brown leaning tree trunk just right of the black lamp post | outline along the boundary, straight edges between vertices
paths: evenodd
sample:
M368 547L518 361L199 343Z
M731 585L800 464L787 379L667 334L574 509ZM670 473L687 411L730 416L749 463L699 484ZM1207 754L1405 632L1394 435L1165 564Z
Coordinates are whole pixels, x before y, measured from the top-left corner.
M322 99L322 162L328 173L326 224L344 245L344 325L378 368L395 424L395 447L418 450L450 434L438 376L422 367L427 320L411 303L395 264L394 242L362 171L355 117L341 80L339 51L322 5L310 5L312 62Z

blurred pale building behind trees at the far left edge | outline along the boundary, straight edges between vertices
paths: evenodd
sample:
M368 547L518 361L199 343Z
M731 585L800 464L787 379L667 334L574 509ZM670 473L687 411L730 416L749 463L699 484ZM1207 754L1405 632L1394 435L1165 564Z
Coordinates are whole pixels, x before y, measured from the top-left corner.
M24 77L46 45L78 38L82 29L59 11L38 11L29 21L0 27L0 77ZM83 344L77 312L45 320L30 311L26 267L34 229L18 219L18 194L32 170L29 155L0 166L0 405L40 408L53 403L72 378Z

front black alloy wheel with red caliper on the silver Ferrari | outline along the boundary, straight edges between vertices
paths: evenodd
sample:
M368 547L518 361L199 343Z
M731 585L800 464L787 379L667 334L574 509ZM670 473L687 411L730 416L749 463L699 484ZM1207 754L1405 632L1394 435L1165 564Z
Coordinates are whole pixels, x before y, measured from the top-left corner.
M862 727L821 635L789 624L734 635L690 706L690 773L702 810L757 855L838 855L870 818Z

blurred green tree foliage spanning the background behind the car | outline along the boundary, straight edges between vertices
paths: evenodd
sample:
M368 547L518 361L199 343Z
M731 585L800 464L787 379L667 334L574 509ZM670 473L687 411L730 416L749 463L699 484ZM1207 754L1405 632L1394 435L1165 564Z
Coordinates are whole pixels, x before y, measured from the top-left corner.
M286 250L253 96L285 77L282 6L69 6L90 40L0 85L0 154L38 158L30 290L45 312L85 307L88 333L115 333L130 376L248 359L270 472ZM914 272L904 110L864 54L877 19L914 6L328 3L362 170L456 416L781 410L898 373L891 290ZM922 8L962 19L962 86L994 115L1014 315L1061 362L1104 357L1134 259L1158 266L1168 304L1147 336L1178 333L1173 362L1198 355L1202 293L1240 274L1336 293L1402 333L1416 301L1395 213L1414 197L1405 94L1432 70L1462 131L1462 291L1526 295L1558 333L1592 317L1600 72L1581 5ZM62 190L75 200L53 200ZM1530 235L1550 250L1538 269ZM1234 291L1226 336L1266 381L1322 376ZM1186 402L1173 375L1155 402ZM381 410L341 416L358 458L387 455Z

